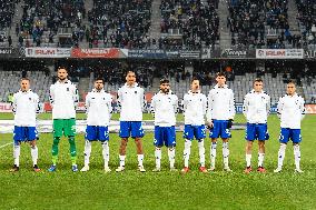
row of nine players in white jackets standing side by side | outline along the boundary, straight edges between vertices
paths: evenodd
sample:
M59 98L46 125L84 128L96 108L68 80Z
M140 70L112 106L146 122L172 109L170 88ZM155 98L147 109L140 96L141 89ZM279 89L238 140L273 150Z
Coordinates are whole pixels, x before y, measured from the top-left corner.
M59 67L57 71L58 81L50 87L50 103L52 107L53 119L53 141L52 141L52 164L48 169L50 172L57 170L58 144L60 138L66 136L70 144L71 169L78 171L77 150L76 150L76 106L78 103L78 90L70 80L68 80L68 70ZM198 79L192 79L190 90L184 96L184 116L185 116L185 149L184 168L181 173L187 173L189 169L189 157L191 141L198 141L199 151L199 171L206 173L216 169L217 139L223 140L223 161L224 170L231 171L228 163L229 147L228 140L231 137L230 128L235 117L234 92L226 84L226 76L223 72L216 74L217 84L209 91L208 97L200 92ZM100 141L102 146L102 157L105 161L105 172L110 172L109 168L109 121L111 118L111 94L103 90L103 79L95 79L95 88L86 97L87 109L87 129L85 144L85 166L81 171L89 171L89 159L91 153L91 142ZM39 97L30 90L30 80L22 78L20 90L13 94L12 110L14 113L13 131L13 159L14 164L11 172L19 171L19 158L21 142L28 141L31 146L31 157L33 170L40 171L38 167L38 147L36 141L38 132L36 129L36 118L39 111ZM255 140L258 140L258 172L266 172L264 168L265 141L269 139L267 129L267 117L270 109L270 97L263 90L263 80L256 79L254 88L245 96L243 112L247 119L246 128L246 168L245 173L251 172L251 148ZM144 129L141 127L142 109L145 104L144 89L136 82L134 71L126 74L126 83L118 90L118 102L120 111L120 131L121 138L119 147L119 167L117 172L125 171L126 148L128 138L135 140L137 148L138 170L145 172L144 149L141 138ZM178 97L170 90L168 79L160 80L160 91L152 97L151 111L155 116L155 138L154 144L156 168L161 170L161 148L168 149L170 171L175 168L175 147L176 147L176 111ZM280 119L280 147L278 150L278 166L274 172L280 172L285 158L286 146L289 140L293 141L295 171L303 172L299 167L302 141L300 121L305 116L304 99L296 93L296 86L293 81L287 83L286 94L279 98L277 104L277 114ZM206 121L205 121L206 117ZM210 144L210 168L205 163L206 129L209 129Z

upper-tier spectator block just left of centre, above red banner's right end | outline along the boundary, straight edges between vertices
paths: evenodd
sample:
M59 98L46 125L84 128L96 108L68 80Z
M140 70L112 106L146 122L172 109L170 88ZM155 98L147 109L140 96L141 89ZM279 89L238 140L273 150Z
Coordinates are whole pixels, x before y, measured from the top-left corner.
M86 39L90 47L148 48L150 8L151 0L93 0Z

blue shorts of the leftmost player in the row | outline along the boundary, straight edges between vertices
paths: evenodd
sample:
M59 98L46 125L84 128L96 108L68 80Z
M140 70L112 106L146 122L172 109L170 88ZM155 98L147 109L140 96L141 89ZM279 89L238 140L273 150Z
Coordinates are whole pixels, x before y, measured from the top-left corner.
M20 141L33 141L38 139L38 131L36 127L17 127L13 130L14 144L19 144Z

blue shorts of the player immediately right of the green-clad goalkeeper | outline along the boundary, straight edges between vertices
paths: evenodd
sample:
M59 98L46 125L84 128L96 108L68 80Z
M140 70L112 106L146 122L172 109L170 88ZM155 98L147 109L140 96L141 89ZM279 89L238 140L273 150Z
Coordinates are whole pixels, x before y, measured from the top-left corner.
M109 129L108 127L87 126L86 139L88 141L108 141L110 139Z

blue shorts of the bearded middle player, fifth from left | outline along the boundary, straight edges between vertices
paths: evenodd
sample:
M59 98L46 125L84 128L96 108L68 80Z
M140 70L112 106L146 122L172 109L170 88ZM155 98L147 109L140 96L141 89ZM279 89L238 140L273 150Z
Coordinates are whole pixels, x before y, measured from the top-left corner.
M156 147L176 147L176 129L175 127L155 127L154 144Z

